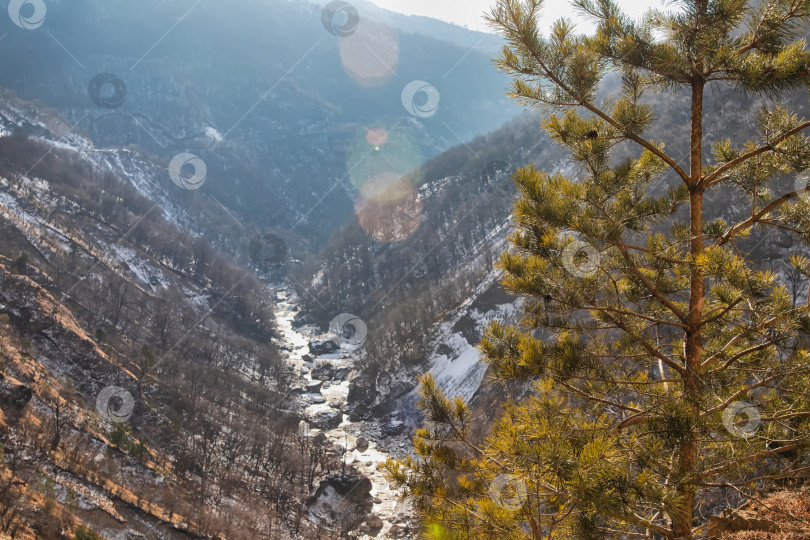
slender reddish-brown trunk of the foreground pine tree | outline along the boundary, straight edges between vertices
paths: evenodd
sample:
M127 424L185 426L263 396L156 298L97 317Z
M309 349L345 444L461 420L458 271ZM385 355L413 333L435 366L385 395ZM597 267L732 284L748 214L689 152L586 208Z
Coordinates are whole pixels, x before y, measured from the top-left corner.
M700 183L703 161L703 77L695 75L692 82L692 119L690 130L689 174L689 228L690 251L696 256L703 251L703 186ZM686 316L685 360L683 397L692 425L697 424L699 409L698 378L703 354L703 336L700 321L703 318L703 298L706 292L706 277L700 269L693 268L690 279L689 313ZM698 463L697 439L694 433L681 442L678 449L676 493L680 503L672 516L672 532L675 538L692 538L692 519L696 490L689 477Z

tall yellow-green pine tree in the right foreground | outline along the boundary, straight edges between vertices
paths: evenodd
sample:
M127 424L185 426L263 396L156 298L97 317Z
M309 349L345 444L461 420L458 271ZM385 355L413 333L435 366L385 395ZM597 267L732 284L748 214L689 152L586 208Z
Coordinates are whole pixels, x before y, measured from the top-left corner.
M783 99L810 86L810 1L680 0L637 21L576 0L594 34L560 20L548 36L541 3L493 9L498 63L576 168L514 175L500 267L525 317L481 344L492 376L533 392L479 440L464 401L424 377L416 456L389 474L435 538L702 537L719 503L810 465L807 300L743 249L771 229L810 241L810 121ZM621 90L598 100L611 74ZM744 144L704 138L720 85L764 103ZM687 95L688 147L649 136L667 128L656 93ZM708 196L744 213L727 223Z

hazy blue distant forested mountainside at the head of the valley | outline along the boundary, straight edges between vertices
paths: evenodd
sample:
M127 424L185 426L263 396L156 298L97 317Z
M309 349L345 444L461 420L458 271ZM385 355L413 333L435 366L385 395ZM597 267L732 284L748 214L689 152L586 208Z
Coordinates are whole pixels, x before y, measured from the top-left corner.
M479 48L499 38L351 9L359 22L341 30L345 13L301 1L53 0L37 28L2 18L13 54L0 85L96 147L136 145L166 164L198 155L204 191L230 211L322 241L369 177L518 113ZM370 155L375 129L391 133L394 162Z

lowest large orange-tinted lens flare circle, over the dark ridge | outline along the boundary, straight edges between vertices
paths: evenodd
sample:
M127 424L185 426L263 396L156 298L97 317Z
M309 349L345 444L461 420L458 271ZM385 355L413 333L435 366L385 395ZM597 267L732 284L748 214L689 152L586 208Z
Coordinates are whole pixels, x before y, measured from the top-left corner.
M406 177L384 173L363 185L355 212L371 237L380 242L401 242L419 228L422 199Z

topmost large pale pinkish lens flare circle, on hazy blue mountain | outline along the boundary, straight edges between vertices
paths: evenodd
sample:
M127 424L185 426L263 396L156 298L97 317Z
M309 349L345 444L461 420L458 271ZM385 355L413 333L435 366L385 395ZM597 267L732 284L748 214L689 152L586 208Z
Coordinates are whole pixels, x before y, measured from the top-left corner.
M365 87L382 86L396 76L399 35L390 26L364 19L357 31L338 41L343 69Z

